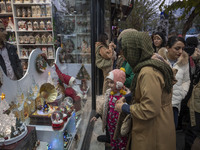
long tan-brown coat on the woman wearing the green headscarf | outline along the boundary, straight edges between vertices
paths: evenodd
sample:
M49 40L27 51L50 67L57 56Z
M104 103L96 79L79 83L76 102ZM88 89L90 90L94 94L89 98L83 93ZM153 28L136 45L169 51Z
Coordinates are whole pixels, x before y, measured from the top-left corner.
M163 91L164 85L159 71L152 67L141 69L135 89L136 103L130 107L133 124L126 149L176 149L172 94Z

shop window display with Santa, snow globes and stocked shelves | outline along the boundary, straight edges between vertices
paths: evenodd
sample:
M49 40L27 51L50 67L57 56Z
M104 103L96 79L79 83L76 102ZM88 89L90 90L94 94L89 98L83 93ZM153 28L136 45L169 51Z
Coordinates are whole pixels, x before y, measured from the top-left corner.
M88 113L91 111L90 15L89 12L85 13L88 9L80 8L90 2L67 1L69 5L66 6L65 12L58 18L55 16L55 20L52 19L55 12L52 12L50 0L12 2L16 46L25 73L22 80L7 82L14 87L10 94L11 99L15 97L12 112L21 122L26 123L25 136L32 132L30 127L35 127L37 138L46 143L45 148L74 149L71 145L76 142L75 134L78 134L82 142ZM7 10L7 6L5 9ZM57 23L61 25L57 26ZM10 28L12 24L9 25ZM58 42L62 45L56 53L53 30L58 31L57 36L61 38ZM12 36L9 39L12 39ZM58 58L55 61L57 69L56 65L50 67L47 63L55 58ZM2 89L0 88L0 92ZM80 133L78 130L83 131ZM23 135L23 131L15 131L13 128L8 139L11 139L12 135L19 140L18 136ZM59 135L59 138L56 138L59 143L52 145L55 135ZM37 138L33 140L34 146L30 149L39 146ZM82 145L81 142L78 146Z

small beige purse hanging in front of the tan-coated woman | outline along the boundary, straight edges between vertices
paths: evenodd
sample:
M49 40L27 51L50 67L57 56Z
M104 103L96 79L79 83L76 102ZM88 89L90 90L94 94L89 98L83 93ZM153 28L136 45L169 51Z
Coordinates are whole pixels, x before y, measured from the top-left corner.
M127 136L132 129L132 118L131 118L131 114L128 114L124 121L122 122L122 126L120 129L120 134L121 136Z

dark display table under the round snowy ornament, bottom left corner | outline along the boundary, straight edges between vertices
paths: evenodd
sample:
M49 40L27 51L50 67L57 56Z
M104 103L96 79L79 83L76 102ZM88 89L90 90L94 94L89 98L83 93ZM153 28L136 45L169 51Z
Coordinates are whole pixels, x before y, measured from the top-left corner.
M33 126L27 126L28 133L27 135L22 138L20 141L6 145L6 146L0 146L1 150L27 150L32 149L35 146L35 143L37 141L37 135L35 127Z

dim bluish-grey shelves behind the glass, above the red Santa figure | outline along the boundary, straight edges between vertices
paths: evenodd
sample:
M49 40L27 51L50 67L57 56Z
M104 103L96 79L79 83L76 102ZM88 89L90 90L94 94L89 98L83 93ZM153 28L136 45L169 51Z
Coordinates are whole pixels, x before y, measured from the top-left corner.
M65 49L68 49L67 45L69 45L69 40L74 45L73 49L67 50L68 54L71 56L69 62L90 64L90 15L73 14L64 15L63 18L65 19L63 24L69 24L69 27L65 29L66 32L58 34L57 36L61 37L61 43ZM72 26L74 27L72 28ZM70 28L71 31L68 30Z

